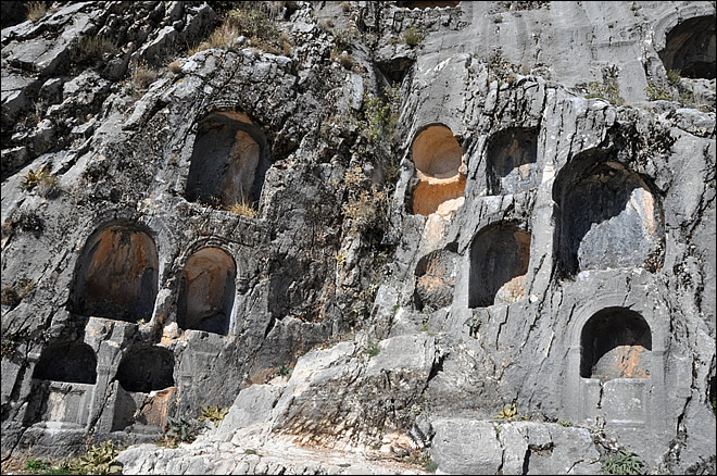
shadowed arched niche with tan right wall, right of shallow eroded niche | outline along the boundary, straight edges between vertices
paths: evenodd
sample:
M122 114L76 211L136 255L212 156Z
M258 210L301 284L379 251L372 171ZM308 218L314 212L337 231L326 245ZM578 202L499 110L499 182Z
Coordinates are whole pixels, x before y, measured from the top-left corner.
M515 225L491 225L470 246L468 306L514 302L525 293L530 262L530 234Z

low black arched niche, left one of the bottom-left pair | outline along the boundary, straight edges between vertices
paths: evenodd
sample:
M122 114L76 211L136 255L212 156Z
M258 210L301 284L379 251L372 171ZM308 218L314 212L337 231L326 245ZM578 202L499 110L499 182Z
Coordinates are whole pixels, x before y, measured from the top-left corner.
M35 364L33 378L95 385L97 358L92 348L83 342L49 346Z

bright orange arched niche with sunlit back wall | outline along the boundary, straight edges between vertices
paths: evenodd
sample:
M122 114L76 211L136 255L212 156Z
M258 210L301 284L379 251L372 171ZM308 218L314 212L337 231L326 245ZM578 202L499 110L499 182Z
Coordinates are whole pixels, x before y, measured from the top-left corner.
M463 148L450 128L433 124L414 139L411 156L418 185L413 191L413 213L448 213L463 202L466 187Z

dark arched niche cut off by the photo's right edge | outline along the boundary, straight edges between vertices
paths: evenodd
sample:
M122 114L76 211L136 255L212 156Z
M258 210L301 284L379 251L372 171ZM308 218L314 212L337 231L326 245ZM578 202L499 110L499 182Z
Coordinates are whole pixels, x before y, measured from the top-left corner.
M714 79L717 67L715 16L696 16L679 23L668 34L659 59L665 70L677 70L680 76Z

